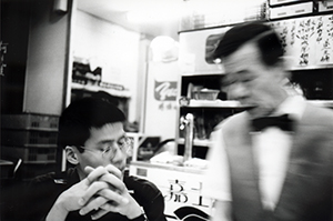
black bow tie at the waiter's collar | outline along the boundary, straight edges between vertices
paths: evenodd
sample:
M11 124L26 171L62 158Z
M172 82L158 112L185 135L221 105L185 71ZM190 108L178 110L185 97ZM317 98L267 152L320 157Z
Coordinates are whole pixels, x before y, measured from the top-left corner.
M252 120L254 131L262 131L268 127L278 127L284 131L293 131L293 120L287 114L278 117L262 117Z

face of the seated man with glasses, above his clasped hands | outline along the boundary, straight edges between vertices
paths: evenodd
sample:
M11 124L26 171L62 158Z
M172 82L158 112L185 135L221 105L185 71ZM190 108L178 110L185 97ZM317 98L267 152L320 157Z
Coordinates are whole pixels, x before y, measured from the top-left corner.
M108 123L100 129L92 128L90 138L84 142L85 150L78 153L81 174L84 173L87 165L97 168L113 164L122 171L125 167L127 153L125 150L121 150L120 144L124 138L125 132L121 122Z

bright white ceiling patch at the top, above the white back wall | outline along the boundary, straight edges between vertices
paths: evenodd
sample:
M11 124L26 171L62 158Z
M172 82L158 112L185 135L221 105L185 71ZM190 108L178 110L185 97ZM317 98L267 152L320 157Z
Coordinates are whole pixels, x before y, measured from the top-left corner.
M184 0L78 0L77 8L127 29L178 41Z

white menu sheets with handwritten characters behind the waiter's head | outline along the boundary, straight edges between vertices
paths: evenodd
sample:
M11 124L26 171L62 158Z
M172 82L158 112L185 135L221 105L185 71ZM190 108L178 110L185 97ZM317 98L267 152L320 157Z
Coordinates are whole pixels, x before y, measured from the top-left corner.
M306 17L273 21L284 46L293 58L291 68L333 64L333 16Z

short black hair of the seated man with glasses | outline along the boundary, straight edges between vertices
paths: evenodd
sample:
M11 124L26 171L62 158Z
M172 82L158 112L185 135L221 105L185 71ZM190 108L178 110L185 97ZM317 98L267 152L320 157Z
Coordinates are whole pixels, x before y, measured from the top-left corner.
M124 113L105 100L83 98L73 101L59 119L58 144L60 148L84 145L90 129L124 121Z

